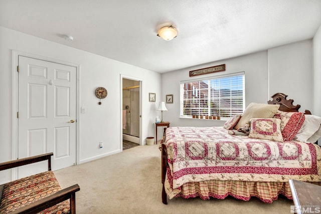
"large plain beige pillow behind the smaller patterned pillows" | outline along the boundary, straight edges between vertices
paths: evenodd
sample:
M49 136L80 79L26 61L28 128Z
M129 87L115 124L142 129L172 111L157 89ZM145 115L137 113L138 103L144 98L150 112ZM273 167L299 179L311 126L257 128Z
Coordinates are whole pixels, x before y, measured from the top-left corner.
M252 118L272 118L279 107L279 104L250 103L234 128L245 127L245 123Z

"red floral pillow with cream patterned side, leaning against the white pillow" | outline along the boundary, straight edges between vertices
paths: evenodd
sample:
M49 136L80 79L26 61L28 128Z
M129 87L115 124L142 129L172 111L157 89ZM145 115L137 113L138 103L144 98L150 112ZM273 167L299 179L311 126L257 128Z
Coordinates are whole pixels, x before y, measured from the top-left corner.
M292 140L300 130L305 116L303 112L284 112L277 110L273 118L281 119L283 140Z

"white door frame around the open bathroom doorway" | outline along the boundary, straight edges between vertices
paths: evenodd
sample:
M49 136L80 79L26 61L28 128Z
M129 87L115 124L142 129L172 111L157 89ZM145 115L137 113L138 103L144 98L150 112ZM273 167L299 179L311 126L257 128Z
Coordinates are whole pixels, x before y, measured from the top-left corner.
M142 124L141 124L141 95L142 95L142 80L136 77L127 76L125 74L120 74L120 121L122 121L122 79L129 79L129 80L135 80L139 81L139 145L142 145L142 137L141 137L141 130L142 130ZM122 151L122 123L120 122L120 150Z

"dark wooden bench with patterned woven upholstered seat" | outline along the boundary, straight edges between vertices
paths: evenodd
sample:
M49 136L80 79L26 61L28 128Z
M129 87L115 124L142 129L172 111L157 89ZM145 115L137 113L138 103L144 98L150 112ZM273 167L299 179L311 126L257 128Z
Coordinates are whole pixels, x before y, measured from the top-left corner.
M5 183L0 187L0 213L75 213L75 192L78 184L61 189L51 171L53 153L38 155L5 163L0 170L48 160L48 171Z

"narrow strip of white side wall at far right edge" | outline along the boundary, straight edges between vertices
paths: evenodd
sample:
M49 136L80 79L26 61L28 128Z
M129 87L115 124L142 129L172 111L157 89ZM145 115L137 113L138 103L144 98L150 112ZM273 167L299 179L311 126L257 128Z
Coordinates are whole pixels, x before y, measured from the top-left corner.
M321 26L313 38L313 114L321 117ZM320 142L320 140L319 140ZM319 143L320 144L320 143Z

